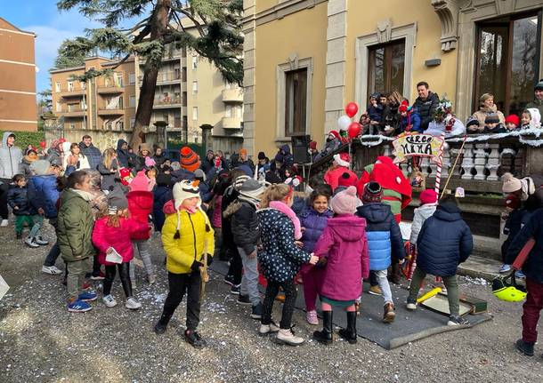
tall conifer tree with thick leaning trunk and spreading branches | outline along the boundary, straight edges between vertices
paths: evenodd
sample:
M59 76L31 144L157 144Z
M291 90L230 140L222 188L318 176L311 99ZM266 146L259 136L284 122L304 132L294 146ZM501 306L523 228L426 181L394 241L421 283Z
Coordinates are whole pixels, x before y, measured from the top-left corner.
M77 8L103 24L103 28L88 30L87 36L66 42L63 52L67 56L99 49L124 55L118 65L132 54L146 60L130 140L133 148L145 140L142 129L150 123L158 68L167 44L197 52L215 65L226 82L242 84L243 0L61 0L57 6L60 10ZM138 21L130 27L120 28L123 21L134 19ZM187 20L196 29L196 36L185 27ZM93 70L80 79L105 73Z

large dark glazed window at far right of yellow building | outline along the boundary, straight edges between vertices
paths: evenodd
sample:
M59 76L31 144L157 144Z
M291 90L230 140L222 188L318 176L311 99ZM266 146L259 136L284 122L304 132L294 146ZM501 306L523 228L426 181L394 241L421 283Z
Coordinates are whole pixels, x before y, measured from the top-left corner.
M477 25L474 105L482 93L492 93L498 110L522 113L533 100L539 74L541 12L514 15Z

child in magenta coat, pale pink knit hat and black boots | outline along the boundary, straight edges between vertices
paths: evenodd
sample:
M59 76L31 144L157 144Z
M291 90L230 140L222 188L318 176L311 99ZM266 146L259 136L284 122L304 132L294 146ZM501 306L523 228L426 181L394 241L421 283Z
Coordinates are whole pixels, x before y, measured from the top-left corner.
M361 278L369 277L368 239L366 219L354 215L358 203L356 188L349 187L336 194L330 206L336 213L328 219L315 255L326 271L320 288L322 307L322 331L313 332L313 339L320 343L332 343L332 306L344 307L347 312L347 328L339 336L349 343L356 343L355 300L361 296Z

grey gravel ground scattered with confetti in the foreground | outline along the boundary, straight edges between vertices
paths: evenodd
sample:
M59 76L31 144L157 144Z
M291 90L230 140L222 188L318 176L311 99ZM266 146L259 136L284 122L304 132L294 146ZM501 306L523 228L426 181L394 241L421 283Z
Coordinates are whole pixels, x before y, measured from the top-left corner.
M83 315L66 311L60 277L41 274L48 246L23 247L11 228L0 229L0 243L0 274L12 285L0 301L1 382L543 381L543 347L528 358L513 346L521 305L493 299L480 279L463 278L461 289L489 299L493 321L385 351L365 339L355 346L336 341L323 347L311 340L296 348L276 345L256 335L257 322L247 307L236 305L219 275L212 275L200 326L208 347L197 351L181 337L184 305L166 334L152 332L166 297L158 239L153 246L158 283L138 281L142 310L109 309L99 301ZM114 295L122 301L120 283ZM314 328L303 313L297 312L294 322L297 333L310 339Z

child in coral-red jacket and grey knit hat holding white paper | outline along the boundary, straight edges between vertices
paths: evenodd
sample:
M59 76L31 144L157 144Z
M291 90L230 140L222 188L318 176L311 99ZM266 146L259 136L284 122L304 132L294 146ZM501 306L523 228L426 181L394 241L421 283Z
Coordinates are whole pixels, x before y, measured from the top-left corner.
M129 265L134 258L132 240L134 237L148 234L149 231L148 224L128 218L128 201L121 188L116 187L110 191L107 215L96 220L93 228L93 243L99 251L98 261L106 267L102 300L107 307L117 306L117 301L111 296L116 267L126 295L126 308L137 310L142 307L132 294ZM109 262L106 259L108 254L114 251L122 257L121 263Z

